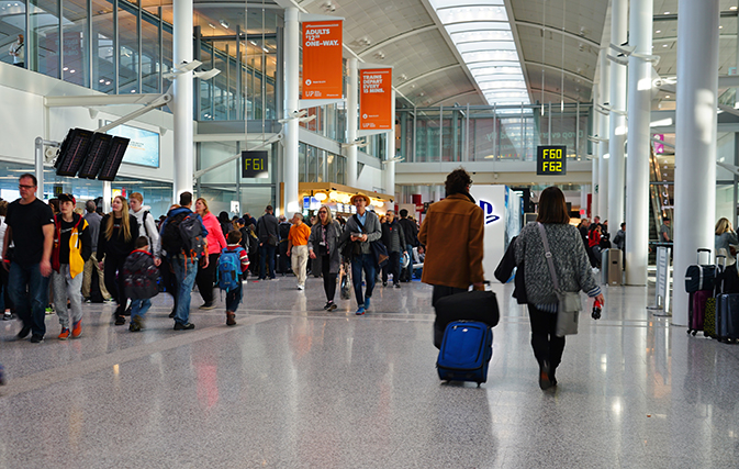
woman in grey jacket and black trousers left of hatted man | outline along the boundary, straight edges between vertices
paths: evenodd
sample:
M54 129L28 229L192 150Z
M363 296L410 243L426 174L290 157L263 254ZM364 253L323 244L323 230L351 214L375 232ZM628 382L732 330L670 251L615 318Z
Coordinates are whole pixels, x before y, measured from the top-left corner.
M313 271L323 273L323 289L326 292L326 311L334 311L334 295L336 294L336 276L341 267L338 249L338 238L341 226L331 215L331 209L321 205L318 221L311 227L307 239L309 257L313 259Z

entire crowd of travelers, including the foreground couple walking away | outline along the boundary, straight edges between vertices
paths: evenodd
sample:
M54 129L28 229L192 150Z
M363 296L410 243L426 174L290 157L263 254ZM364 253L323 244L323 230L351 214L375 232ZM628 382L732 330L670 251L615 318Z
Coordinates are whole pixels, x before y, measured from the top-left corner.
M309 275L323 277L326 311L337 309L340 280L354 287L357 315L371 311L376 282L387 287L392 280L393 289L400 289L414 278L418 263L421 280L433 287L433 304L470 287L484 289L484 215L461 168L447 176L446 198L429 205L421 226L405 210L400 217L392 210L379 216L368 209L370 199L363 193L351 197L356 214L346 219L321 205L310 219L294 213L288 220L276 217L271 205L258 219L249 213L215 216L206 200L182 192L156 220L139 193L130 200L116 196L107 214L89 201L85 214L78 213L72 194L48 204L36 199L36 185L33 175L24 174L19 179L21 198L0 202L0 311L7 311L4 319L21 321L18 339L44 339L49 293L60 324L58 338L66 340L82 335L83 301L114 302L114 324L123 325L131 316L128 330L135 333L146 328L150 299L161 291L173 299L169 316L175 331L193 330L190 300L195 283L203 310L215 308L214 288L226 292L226 325L233 326L248 275L268 281L292 272L298 290L306 288ZM558 297L545 253L558 266L562 290L582 290L603 301L593 248L608 239L607 222L583 221L578 230L569 221L564 196L548 188L539 198L538 223L525 226L512 245L525 283L541 389L557 384L564 348L564 337L555 331ZM541 231L550 239L550 254ZM619 235L614 242L624 243L624 225Z

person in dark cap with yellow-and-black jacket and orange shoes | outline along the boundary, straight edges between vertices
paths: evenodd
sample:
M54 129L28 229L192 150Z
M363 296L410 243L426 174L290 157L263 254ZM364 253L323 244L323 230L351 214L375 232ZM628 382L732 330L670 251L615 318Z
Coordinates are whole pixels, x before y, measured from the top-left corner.
M85 217L75 213L76 204L74 196L59 194L59 213L54 215L52 286L54 306L61 324L60 340L68 339L70 335L77 338L82 334L82 279L85 263L92 254L90 230Z

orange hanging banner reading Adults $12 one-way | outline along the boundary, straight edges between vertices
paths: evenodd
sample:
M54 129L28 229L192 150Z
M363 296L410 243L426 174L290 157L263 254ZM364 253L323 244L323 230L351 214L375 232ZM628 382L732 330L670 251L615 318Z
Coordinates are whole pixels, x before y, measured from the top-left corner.
M343 22L303 23L303 99L343 97Z

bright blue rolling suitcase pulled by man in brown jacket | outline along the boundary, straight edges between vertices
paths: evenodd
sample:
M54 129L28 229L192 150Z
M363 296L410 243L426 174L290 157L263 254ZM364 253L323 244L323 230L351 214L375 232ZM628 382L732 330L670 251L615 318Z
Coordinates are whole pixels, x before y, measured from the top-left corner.
M493 332L485 323L455 321L444 332L436 368L445 381L488 381L493 357Z

